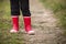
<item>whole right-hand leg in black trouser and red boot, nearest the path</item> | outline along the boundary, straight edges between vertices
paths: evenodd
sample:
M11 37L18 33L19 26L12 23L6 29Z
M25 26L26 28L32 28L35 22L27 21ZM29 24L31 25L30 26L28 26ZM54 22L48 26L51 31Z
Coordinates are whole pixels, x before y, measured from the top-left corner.
M21 2L21 10L24 19L25 31L29 34L32 34L34 31L32 31L32 26L31 26L31 13L29 8L29 0L21 0L20 2Z

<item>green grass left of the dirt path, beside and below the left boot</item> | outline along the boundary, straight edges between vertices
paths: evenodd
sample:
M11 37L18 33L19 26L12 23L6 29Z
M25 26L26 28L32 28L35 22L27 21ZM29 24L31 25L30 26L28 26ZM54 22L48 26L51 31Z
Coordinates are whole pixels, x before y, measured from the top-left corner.
M23 33L10 33L11 15L9 0L0 2L0 44L24 44Z

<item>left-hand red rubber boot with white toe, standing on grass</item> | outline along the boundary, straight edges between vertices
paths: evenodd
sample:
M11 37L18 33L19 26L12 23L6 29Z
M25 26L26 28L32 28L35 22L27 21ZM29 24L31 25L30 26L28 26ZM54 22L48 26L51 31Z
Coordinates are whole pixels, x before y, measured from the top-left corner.
M13 28L10 32L16 33L19 31L19 16L16 15L12 16L12 24L13 24Z

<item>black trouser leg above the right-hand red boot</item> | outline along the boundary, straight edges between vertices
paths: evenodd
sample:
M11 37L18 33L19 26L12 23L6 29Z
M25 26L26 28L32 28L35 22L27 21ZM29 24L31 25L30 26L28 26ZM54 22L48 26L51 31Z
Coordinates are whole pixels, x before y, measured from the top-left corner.
M29 0L20 0L23 16L31 16Z

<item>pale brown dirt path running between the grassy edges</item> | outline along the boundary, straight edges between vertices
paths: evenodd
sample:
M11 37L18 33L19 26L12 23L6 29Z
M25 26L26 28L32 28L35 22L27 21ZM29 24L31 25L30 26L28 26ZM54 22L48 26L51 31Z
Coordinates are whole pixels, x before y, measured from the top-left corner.
M30 0L32 26L35 35L23 34L25 44L59 44L62 31L56 26L53 12L45 9L38 0Z

